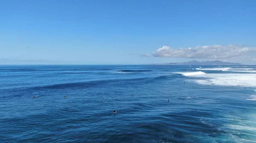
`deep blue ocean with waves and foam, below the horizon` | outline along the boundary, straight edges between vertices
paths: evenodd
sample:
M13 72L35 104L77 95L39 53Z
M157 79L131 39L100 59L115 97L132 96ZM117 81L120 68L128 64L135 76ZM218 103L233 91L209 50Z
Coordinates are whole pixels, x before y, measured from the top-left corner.
M1 65L0 142L254 143L255 68Z

